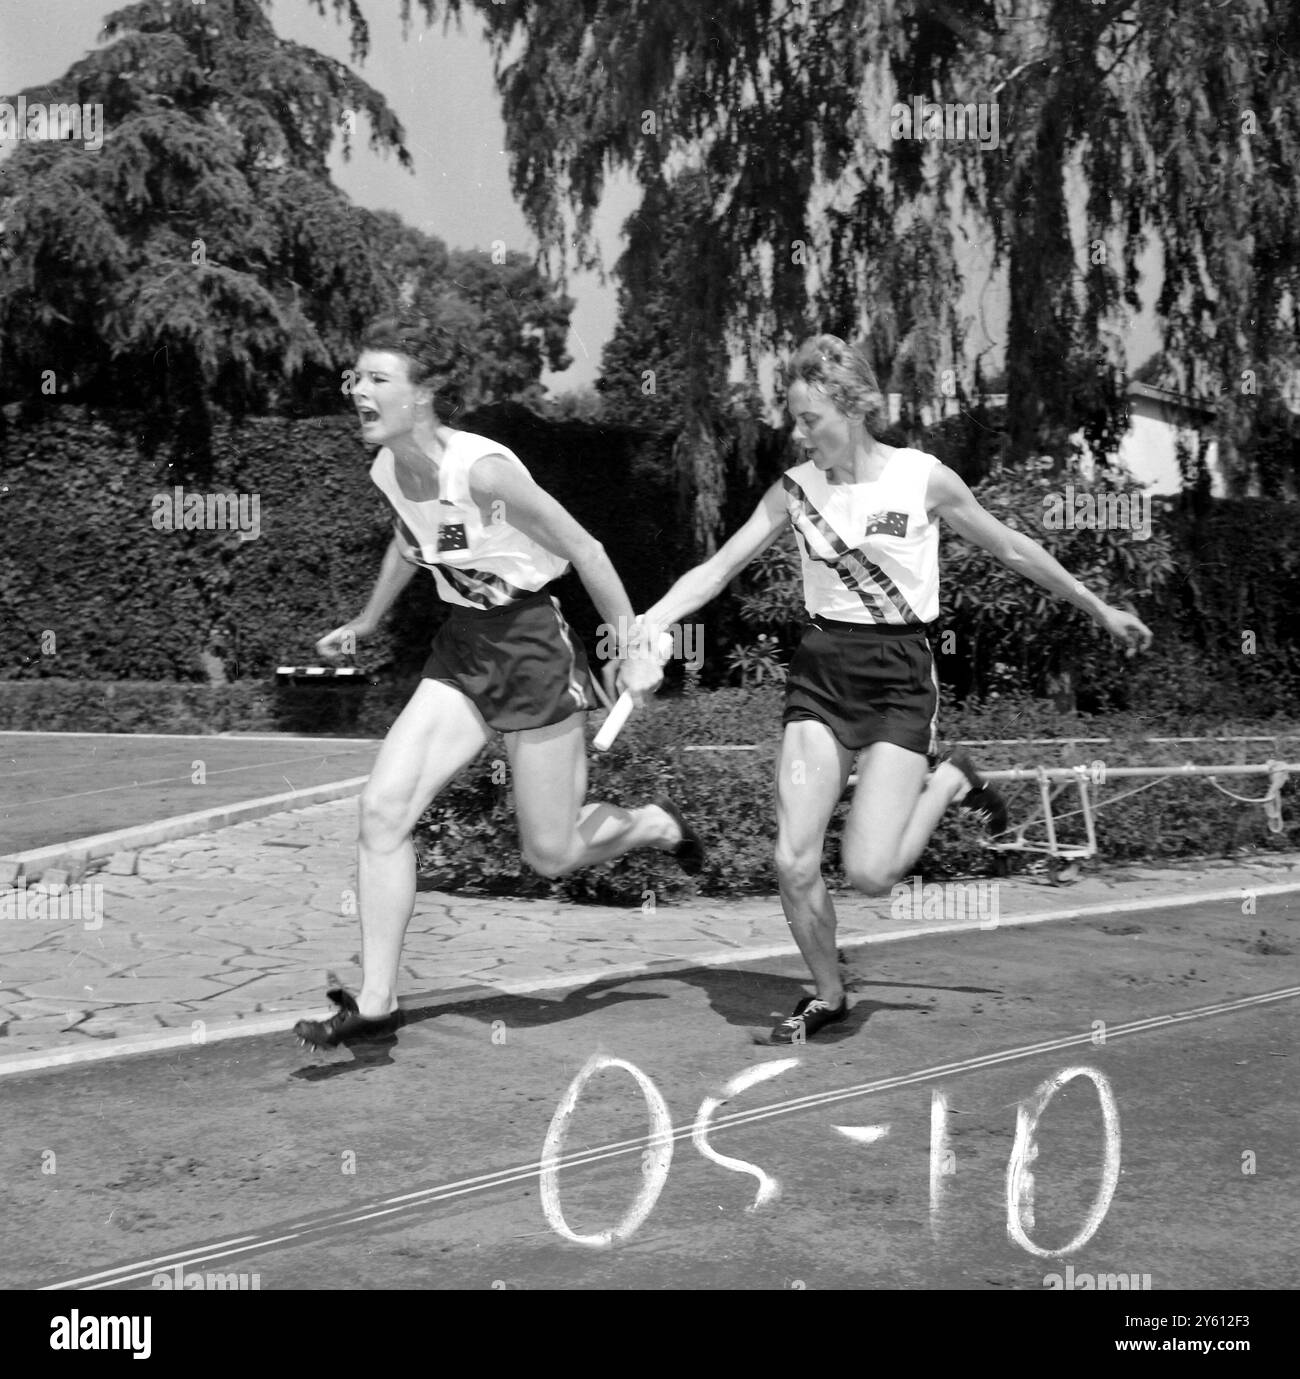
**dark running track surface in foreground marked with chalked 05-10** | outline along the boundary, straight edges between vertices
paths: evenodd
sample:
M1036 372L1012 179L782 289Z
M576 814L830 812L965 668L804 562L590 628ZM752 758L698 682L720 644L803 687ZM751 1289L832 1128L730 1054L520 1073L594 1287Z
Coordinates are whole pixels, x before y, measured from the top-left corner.
M797 1049L760 1043L801 978L768 960L430 1005L361 1059L277 1036L19 1076L0 1284L149 1289L179 1265L262 1289L1042 1292L1070 1265L1152 1292L1290 1289L1297 916L1288 895L1249 918L1217 902L855 952L851 1019ZM539 1178L594 1054L637 1067L667 1113L652 1140L647 1094L605 1069L551 1146L575 1234L626 1225L658 1185L604 1247L562 1238ZM760 1179L710 1162L692 1128L736 1074L776 1063L709 1135L778 1185L751 1211ZM1008 1234L1008 1164L1017 1110L1077 1067L1114 1096L1117 1176L1086 1242L1049 1258ZM1106 1143L1095 1084L1060 1085L1023 1222L1041 1249L1078 1236ZM34 1168L45 1151L57 1176Z

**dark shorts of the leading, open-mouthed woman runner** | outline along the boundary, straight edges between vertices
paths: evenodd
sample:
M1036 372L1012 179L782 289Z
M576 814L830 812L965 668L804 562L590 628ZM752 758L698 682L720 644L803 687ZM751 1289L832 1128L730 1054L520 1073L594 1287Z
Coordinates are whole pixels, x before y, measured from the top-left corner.
M459 690L498 732L545 728L596 705L587 652L545 589L502 608L452 607L423 677Z

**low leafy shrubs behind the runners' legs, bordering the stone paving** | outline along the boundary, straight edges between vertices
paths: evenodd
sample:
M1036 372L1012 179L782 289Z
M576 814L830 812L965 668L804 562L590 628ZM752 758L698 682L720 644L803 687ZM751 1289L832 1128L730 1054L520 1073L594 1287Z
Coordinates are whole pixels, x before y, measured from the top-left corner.
M505 771L503 746L494 743L458 785L426 811L416 829L425 858L426 884L441 889L551 896L576 902L644 905L678 896L772 895L776 876L775 761L780 735L782 695L773 690L718 690L660 701L629 720L613 749L590 758L589 800L634 807L664 793L692 821L709 849L704 872L687 877L659 852L634 852L615 862L546 881L518 856L518 838ZM948 741L1019 738L1113 738L1101 745L984 746L976 753L988 769L1035 765L1103 767L1181 765L1192 753L1205 764L1267 758L1300 760L1300 729L1293 723L1224 724L1221 720L1154 723L1143 714L1088 718L1063 713L1050 701L1006 699L972 703L943 716ZM1164 729L1164 732L1158 731ZM1271 745L1150 743L1146 736L1274 734ZM702 745L755 746L754 752L688 750ZM1264 793L1261 776L1223 782L1237 794ZM1146 782L1119 785L1111 779L1100 790L1104 800ZM1037 782L1008 787L1012 821L1038 812ZM1239 804L1205 781L1168 781L1140 790L1096 815L1100 855L1106 862L1191 856L1226 856L1248 848L1281 849L1300 844L1294 818L1294 789L1283 800L1290 815L1286 832L1267 832L1259 805ZM823 870L829 884L842 885L840 834L849 797L837 807L827 830ZM1062 792L1053 812L1077 809L1073 786ZM1059 836L1082 841L1081 821L1066 818ZM932 836L914 870L933 880L988 876L1024 870L1033 854L997 855L982 845L980 829L961 811L950 811ZM1042 829L1030 833L1042 840Z

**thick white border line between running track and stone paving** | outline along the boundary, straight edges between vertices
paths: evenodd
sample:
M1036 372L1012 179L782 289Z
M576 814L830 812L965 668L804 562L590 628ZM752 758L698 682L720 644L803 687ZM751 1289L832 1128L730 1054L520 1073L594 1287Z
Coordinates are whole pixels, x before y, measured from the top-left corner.
M361 778L364 783L364 776ZM356 782L349 782L356 783ZM310 803L310 801L306 801ZM1232 887L1227 891L1205 891L1199 895L1176 895L1148 900L1125 900L1118 905L1084 905L1073 910L1044 910L1037 914L1010 916L998 920L998 928L1019 928L1026 924L1048 924L1052 920L1079 920L1100 916L1126 914L1135 910L1169 910L1188 905L1210 905L1220 900L1239 902L1242 887ZM1292 895L1300 891L1300 883L1288 881L1278 885L1250 887L1256 896ZM844 935L838 939L842 949L864 947L869 943L902 943L907 939L933 938L940 934L969 934L983 928L979 920L955 921L953 924L917 925L906 929L886 929L882 934L859 934L856 936ZM984 932L993 932L986 929ZM593 982L616 982L622 978L641 976L653 972L660 976L671 976L682 968L696 967L729 967L738 963L761 963L768 958L797 957L795 943L769 943L750 949L722 949L717 953L684 953L681 957L662 957L647 963L624 963L618 967L598 967L587 972L565 972L562 975L547 975L528 978L518 982L499 982L476 986L458 986L444 990L419 992L400 998L400 1005L405 1011L427 1009L430 1005L466 1005L471 1001L489 1001L499 996L529 996L534 992L554 992L567 987L590 986ZM232 1019L223 1022L204 1022L204 1043L216 1044L232 1038L250 1038L255 1034L278 1034L291 1030L294 1025L310 1014L295 1011L285 1015L266 1015L258 1019ZM196 1012L194 1019L203 1019ZM21 1033L21 1030L15 1030ZM156 1054L168 1048L194 1048L193 1036L189 1030L178 1030L174 1034L125 1034L121 1038L108 1040L99 1044L79 1045L77 1048L62 1048L39 1051L32 1054L11 1054L0 1056L0 1077L10 1073L39 1073L54 1067L70 1067L79 1063L98 1063L109 1058L128 1058L132 1054Z

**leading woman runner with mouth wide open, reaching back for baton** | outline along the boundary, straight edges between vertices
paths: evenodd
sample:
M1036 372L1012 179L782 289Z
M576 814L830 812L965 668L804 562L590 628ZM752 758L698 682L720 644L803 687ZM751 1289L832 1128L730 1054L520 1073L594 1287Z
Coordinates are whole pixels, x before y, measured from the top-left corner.
M416 567L433 575L449 612L361 793L361 990L335 987L329 1019L298 1022L294 1033L317 1048L403 1025L397 964L415 906L411 830L494 729L505 736L522 854L535 872L557 877L633 848L671 852L692 873L703 865L699 837L669 800L640 809L585 804L587 658L547 586L572 564L611 627L631 625L631 603L604 547L514 454L437 416L436 370L423 323L411 319L376 323L356 367L361 436L380 447L371 479L393 506L394 535L364 612L317 651L336 659L372 634ZM655 656L619 663L619 688L637 698L660 680Z

